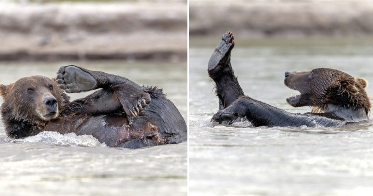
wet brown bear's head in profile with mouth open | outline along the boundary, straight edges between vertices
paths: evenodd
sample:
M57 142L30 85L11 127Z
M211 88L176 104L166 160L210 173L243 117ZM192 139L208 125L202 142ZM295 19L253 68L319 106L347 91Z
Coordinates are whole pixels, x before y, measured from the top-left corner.
M337 69L285 72L285 85L301 93L286 99L294 107L311 106L312 112L325 113L348 110L345 115L354 111L365 115L370 113L370 98L365 91L367 81Z

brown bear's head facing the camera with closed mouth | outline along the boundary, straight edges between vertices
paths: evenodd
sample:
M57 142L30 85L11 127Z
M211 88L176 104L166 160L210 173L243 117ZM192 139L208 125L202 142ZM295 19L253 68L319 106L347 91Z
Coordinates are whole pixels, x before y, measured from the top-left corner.
M55 81L41 75L24 77L9 85L0 84L0 94L3 97L1 116L8 135L20 129L16 127L19 123L37 127L58 118L69 102Z

